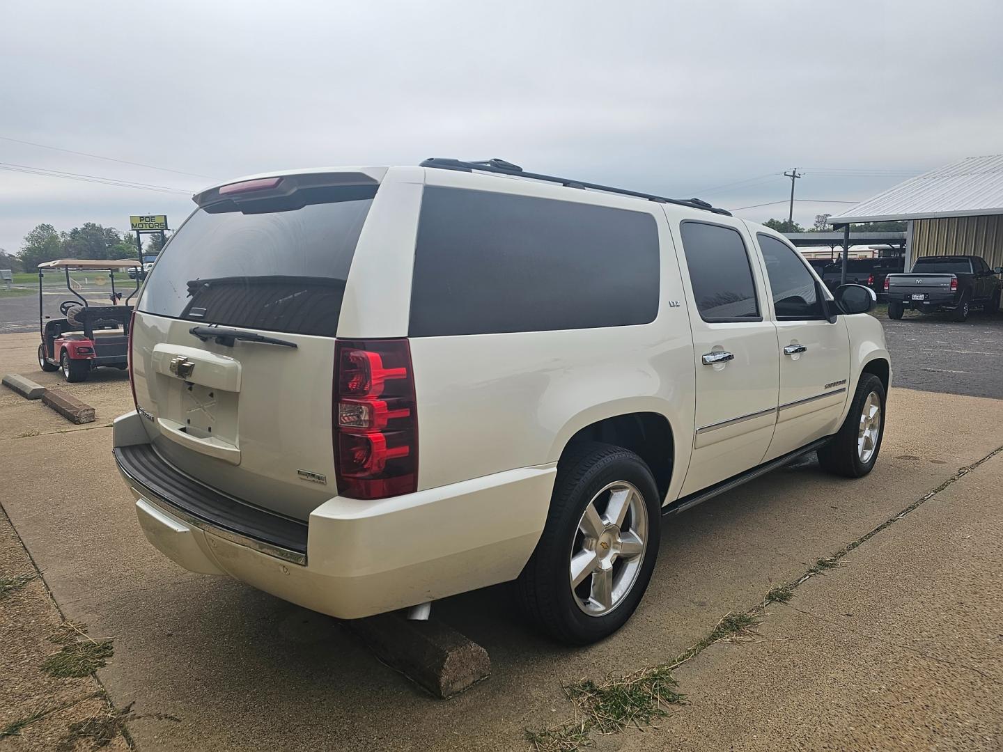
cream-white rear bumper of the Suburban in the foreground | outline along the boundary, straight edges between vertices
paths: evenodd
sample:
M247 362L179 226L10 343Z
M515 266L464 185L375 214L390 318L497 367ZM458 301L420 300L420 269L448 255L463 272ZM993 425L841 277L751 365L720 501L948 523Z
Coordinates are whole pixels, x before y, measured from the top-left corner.
M198 481L184 476L172 483L173 468L155 455L141 420L135 412L116 419L113 444L156 548L191 572L229 575L341 619L517 578L543 531L557 473L543 465L377 501L335 496L302 522L248 505L214 509L241 502L205 485L186 490ZM140 454L156 472L136 467Z

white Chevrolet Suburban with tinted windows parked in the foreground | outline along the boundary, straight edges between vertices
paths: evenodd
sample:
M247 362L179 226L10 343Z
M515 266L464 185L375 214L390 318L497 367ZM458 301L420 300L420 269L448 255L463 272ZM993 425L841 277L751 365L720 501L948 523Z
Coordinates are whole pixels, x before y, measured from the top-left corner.
M586 644L637 608L662 517L812 450L878 458L873 292L704 202L497 159L195 202L114 423L145 535L192 572L344 619L516 581Z

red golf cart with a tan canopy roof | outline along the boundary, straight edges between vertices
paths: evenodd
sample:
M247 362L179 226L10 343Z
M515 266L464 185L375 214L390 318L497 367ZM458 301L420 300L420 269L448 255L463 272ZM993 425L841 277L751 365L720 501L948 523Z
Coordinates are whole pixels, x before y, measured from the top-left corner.
M122 302L122 294L115 290L114 273L139 266L139 262L125 259L60 259L38 265L38 328L42 335L38 365L43 371L60 369L66 381L84 381L91 368L128 367L128 327L132 315L128 302L138 291L140 281L135 281L135 289ZM51 319L45 316L42 279L47 270L60 269L66 275L66 289L76 300L59 304L59 313L65 318ZM88 301L74 290L70 271L107 272L111 305Z

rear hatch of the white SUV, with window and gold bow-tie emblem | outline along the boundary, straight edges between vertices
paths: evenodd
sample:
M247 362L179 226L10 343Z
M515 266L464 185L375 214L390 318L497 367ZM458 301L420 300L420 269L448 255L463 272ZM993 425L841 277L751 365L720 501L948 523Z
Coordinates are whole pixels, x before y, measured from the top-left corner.
M146 281L132 334L136 407L197 480L307 519L336 495L335 334L379 186L365 172L245 180L200 208Z

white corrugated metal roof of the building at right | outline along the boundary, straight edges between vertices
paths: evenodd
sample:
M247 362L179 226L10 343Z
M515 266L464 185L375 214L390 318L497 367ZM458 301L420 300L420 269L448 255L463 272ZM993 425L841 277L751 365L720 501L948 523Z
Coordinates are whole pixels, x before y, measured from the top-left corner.
M830 224L1003 214L1003 154L969 156L900 182Z

